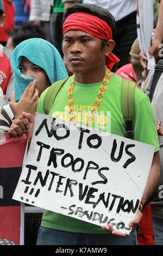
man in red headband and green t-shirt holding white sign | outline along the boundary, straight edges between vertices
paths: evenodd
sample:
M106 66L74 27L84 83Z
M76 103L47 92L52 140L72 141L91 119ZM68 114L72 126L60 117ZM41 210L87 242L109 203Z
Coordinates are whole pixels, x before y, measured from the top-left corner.
M60 89L49 115L62 117L68 108L68 120L97 127L95 114L104 113L98 129L126 136L121 112L122 78L110 70L118 59L111 53L115 46L112 40L115 20L109 11L94 4L76 4L67 8L63 22L62 50L73 76L69 77ZM45 114L43 102L47 90L40 97L37 112ZM86 112L86 123L77 118ZM110 126L106 112L111 112ZM148 97L135 88L134 139L155 146L151 172L143 193L144 198L151 196L160 175L158 135L152 107ZM26 116L27 117L27 116ZM22 117L23 124L27 119ZM103 121L104 120L104 121ZM29 118L29 125L30 123ZM20 133L18 133L20 134ZM54 199L55 200L55 199ZM55 202L54 202L55 203ZM137 225L142 218L138 210L130 221L129 236L114 230L111 224L100 227L76 218L45 210L39 229L37 245L137 245Z

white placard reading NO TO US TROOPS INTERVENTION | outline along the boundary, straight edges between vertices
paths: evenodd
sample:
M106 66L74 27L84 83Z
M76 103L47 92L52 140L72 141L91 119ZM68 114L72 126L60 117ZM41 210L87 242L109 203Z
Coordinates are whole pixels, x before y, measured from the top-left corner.
M13 199L129 234L154 147L36 113Z

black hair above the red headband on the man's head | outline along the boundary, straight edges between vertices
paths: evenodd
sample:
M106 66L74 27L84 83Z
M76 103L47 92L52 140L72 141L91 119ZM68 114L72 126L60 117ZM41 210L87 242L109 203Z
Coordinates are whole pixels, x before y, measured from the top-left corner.
M115 19L114 16L112 16L112 14L108 10L99 7L96 4L74 4L66 9L62 23L64 23L68 15L73 13L88 13L96 17L99 17L100 19L108 23L108 25L111 27L112 34L114 34Z

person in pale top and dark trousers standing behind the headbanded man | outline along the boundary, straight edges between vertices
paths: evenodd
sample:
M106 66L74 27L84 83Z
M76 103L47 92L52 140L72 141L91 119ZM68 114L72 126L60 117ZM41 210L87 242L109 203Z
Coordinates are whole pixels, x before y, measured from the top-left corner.
M61 0L64 3L64 11L73 4L96 4L114 16L115 32L113 39L116 43L113 53L120 58L112 70L116 72L121 66L130 63L130 49L137 38L136 7L137 0Z

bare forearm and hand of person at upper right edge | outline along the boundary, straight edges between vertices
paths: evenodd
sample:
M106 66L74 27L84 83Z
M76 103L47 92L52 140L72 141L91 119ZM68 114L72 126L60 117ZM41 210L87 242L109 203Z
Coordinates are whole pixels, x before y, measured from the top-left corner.
M157 56L158 52L160 50L159 45L162 44L163 40L163 0L160 1L160 7L159 7L159 14L158 14L158 21L155 29L154 39L152 41L152 46L149 49L149 57L151 56ZM140 63L144 69L147 68L146 61L148 58L143 54L140 53Z

